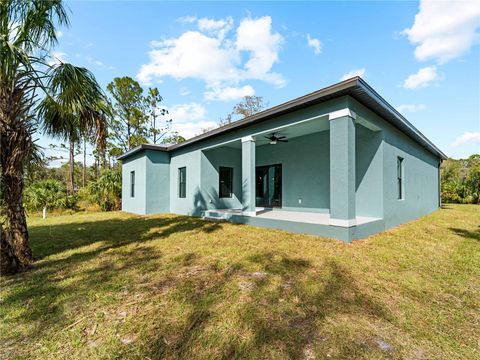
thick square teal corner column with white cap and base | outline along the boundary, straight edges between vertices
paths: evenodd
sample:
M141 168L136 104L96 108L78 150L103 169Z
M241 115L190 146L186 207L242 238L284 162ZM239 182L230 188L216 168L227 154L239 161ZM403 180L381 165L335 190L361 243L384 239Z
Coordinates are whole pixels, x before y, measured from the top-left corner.
M330 225L334 226L356 225L355 118L350 109L329 114Z

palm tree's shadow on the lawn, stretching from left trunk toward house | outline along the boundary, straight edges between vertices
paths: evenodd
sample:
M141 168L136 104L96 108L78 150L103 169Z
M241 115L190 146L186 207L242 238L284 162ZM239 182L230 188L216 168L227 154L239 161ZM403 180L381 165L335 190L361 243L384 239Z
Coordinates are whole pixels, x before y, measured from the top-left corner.
M185 216L33 226L29 229L31 245L40 260L29 271L5 279L3 286L9 286L11 291L2 297L2 307L19 309L10 321L28 324L24 336L33 343L42 338L50 326L68 325L65 304L77 303L75 297L85 296L99 287L101 291L118 291L117 280L122 279L128 269L155 271L154 265L161 261L162 255L149 246L150 240L193 231L212 233L220 228L219 224ZM120 249L129 244L135 247ZM89 245L94 247L81 249ZM71 253L62 256L70 250ZM50 256L53 257L48 258ZM189 254L185 263L194 256ZM89 262L96 257L100 260L94 264ZM78 304L82 304L82 300Z

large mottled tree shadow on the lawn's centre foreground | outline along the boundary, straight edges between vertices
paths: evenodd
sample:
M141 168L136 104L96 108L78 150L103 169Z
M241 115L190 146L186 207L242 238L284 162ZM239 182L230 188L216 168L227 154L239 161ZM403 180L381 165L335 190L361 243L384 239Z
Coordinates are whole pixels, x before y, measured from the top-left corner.
M272 349L275 349L287 358L303 358L306 348L319 341L318 332L325 325L325 319L337 313L392 319L387 309L364 294L348 270L335 261L322 269L322 275L313 279L318 281L314 284L305 281L305 272L313 269L305 259L268 252L245 261L260 267L261 271L245 273L245 267L236 264L207 286L202 285L205 278L200 277L189 279L177 288L178 301L191 308L188 321L183 327L172 328L165 324L157 327L153 331L155 338L149 339L150 346L142 355L150 358L261 358L268 353L274 354ZM249 281L254 283L248 300L241 299L242 290L240 294L231 295L232 286L241 284L238 281L242 275L250 276ZM273 283L272 277L280 278L280 283ZM228 303L237 308L234 319L224 318L225 315L218 312L222 306L228 307ZM224 342L223 328L219 325L223 323L235 324L231 325L235 328L227 331L240 335L233 335ZM242 329L249 334L248 341ZM215 343L219 338L223 342ZM196 354L195 349L205 349L202 346L215 349L214 354ZM359 346L365 345L352 343L341 351L347 356Z

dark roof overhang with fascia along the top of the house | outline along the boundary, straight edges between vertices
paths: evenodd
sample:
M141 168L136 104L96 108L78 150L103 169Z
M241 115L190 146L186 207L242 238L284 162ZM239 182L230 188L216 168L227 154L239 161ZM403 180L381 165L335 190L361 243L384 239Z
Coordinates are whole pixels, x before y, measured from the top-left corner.
M410 138L418 142L430 152L438 155L442 159L447 159L447 156L438 149L430 140L427 139L415 126L413 126L407 119L405 119L395 108L383 99L370 85L368 85L362 78L356 76L351 79L339 82L337 84L325 87L323 89L314 91L310 94L301 96L299 98L287 101L283 104L274 106L270 109L259 112L255 115L246 117L221 126L217 129L208 131L204 134L195 136L187 141L171 146L160 145L140 145L134 149L127 151L118 157L124 159L144 149L158 150L158 151L172 151L189 145L198 143L200 141L210 139L212 137L228 133L233 130L238 130L262 121L272 119L277 116L285 115L315 104L325 102L341 96L351 96L370 110L378 114L380 117L391 123L393 126L401 130Z

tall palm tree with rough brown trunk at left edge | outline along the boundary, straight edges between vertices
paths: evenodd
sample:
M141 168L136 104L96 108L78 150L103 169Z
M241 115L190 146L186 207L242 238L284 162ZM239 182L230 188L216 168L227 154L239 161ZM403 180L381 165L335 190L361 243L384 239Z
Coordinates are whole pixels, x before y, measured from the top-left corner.
M24 168L35 148L32 134L41 121L36 116L39 96L54 101L61 89L68 89L63 98L77 106L75 114L82 114L98 95L87 70L47 64L57 43L56 25L68 25L61 0L0 1L0 231L5 233L0 248L8 256L1 261L2 274L33 261L22 196Z

